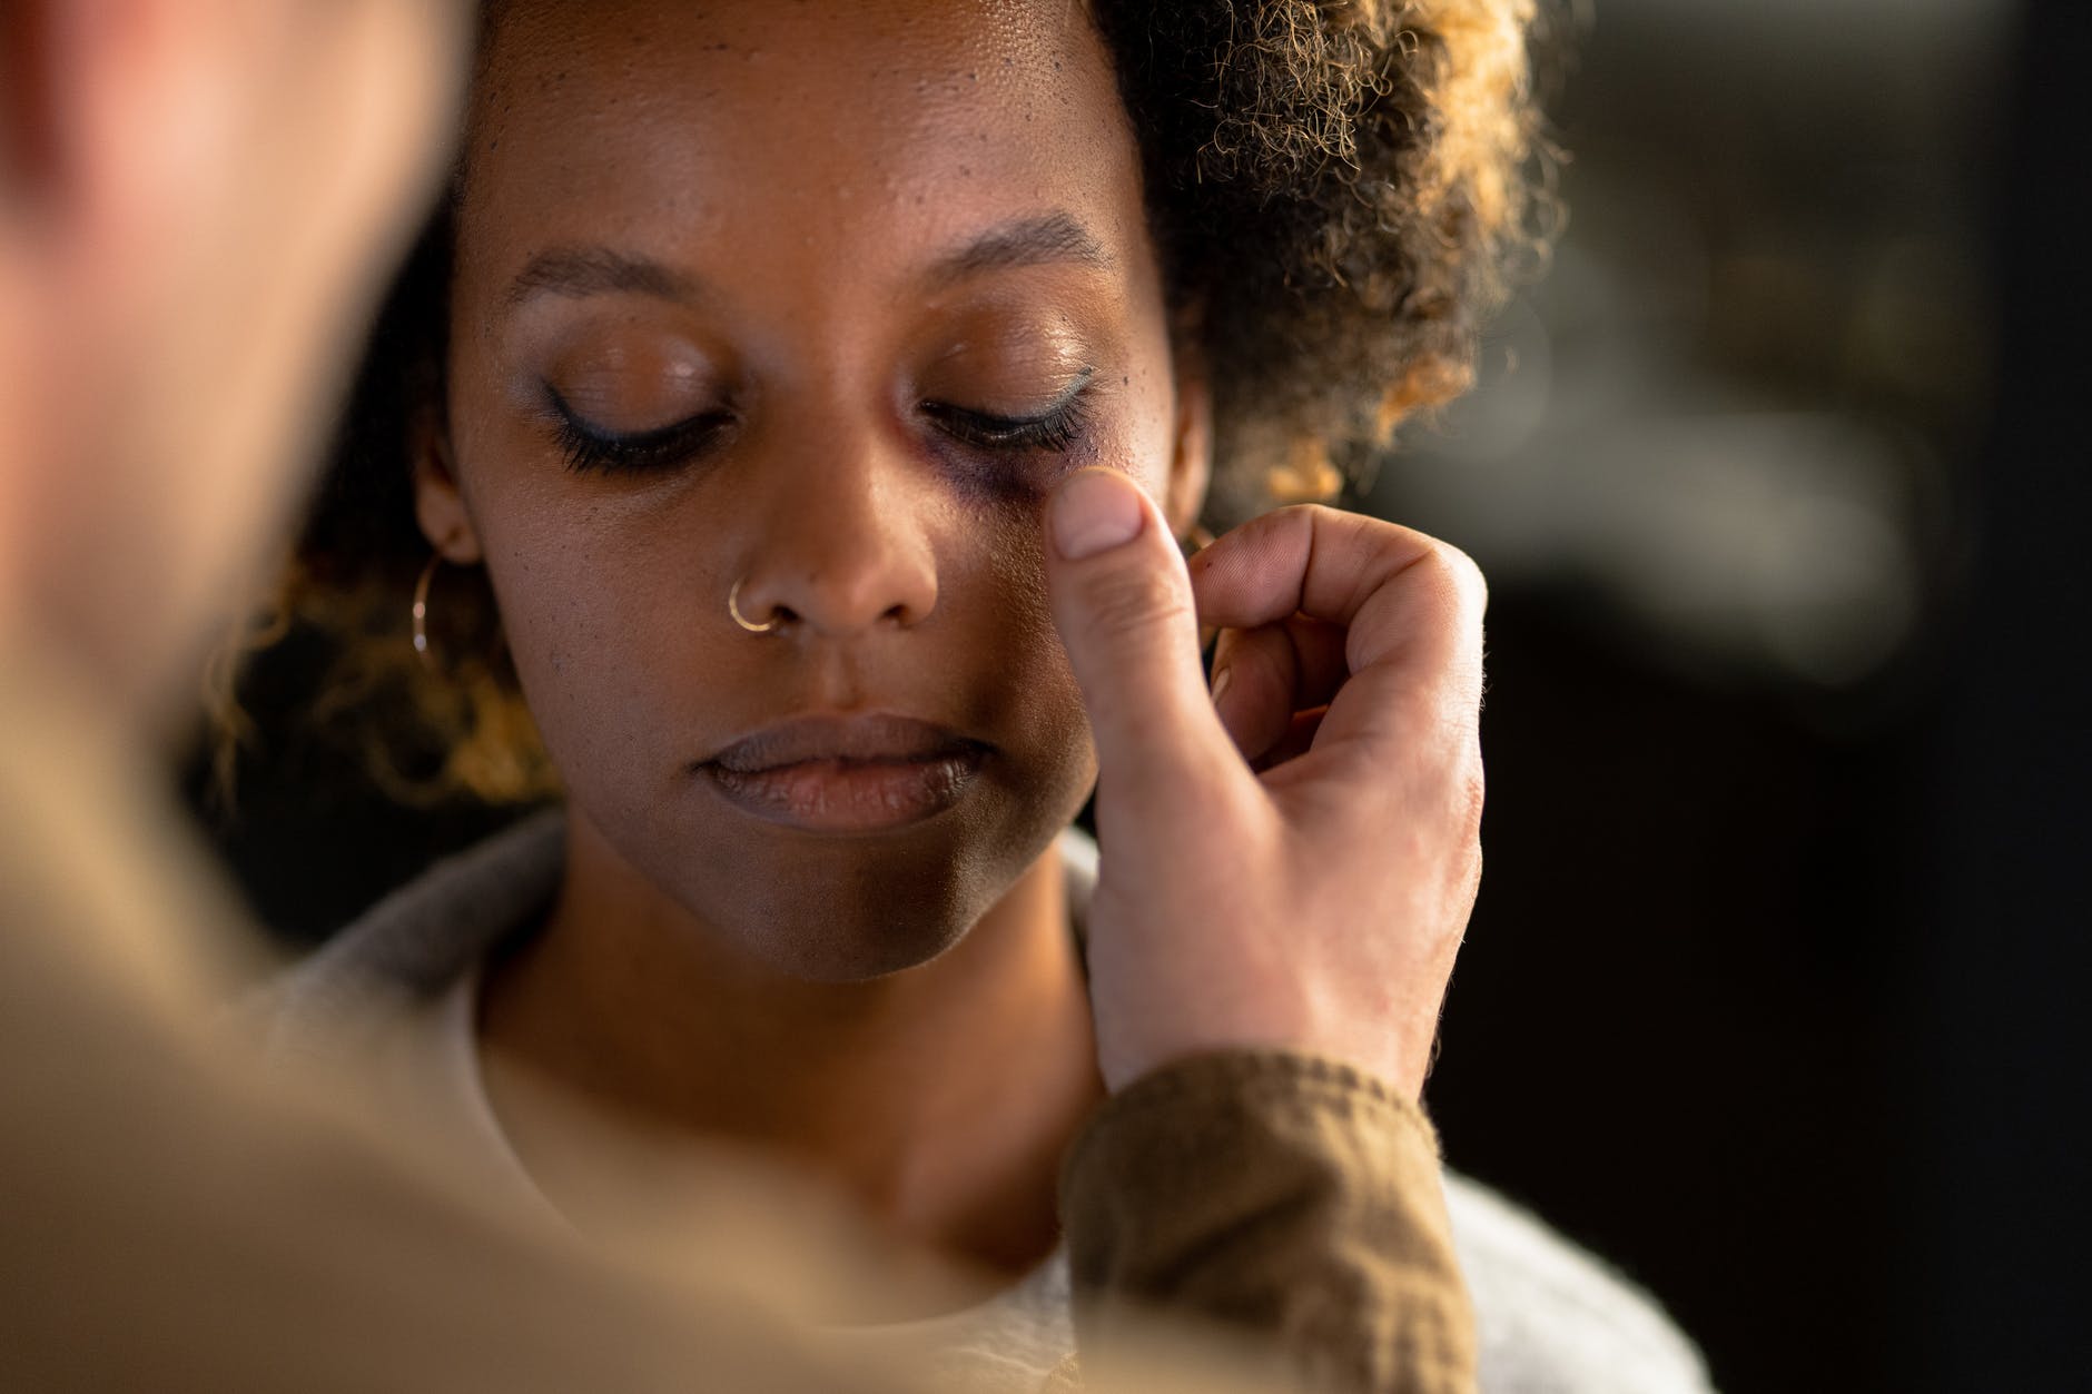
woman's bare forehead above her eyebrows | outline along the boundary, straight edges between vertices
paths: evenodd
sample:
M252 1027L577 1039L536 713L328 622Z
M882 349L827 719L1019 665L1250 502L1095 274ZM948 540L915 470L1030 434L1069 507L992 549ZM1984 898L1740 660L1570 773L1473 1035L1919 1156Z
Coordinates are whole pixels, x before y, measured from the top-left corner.
M1052 209L1132 247L1138 188L1077 0L513 0L475 86L464 232L517 257L791 239L874 274Z

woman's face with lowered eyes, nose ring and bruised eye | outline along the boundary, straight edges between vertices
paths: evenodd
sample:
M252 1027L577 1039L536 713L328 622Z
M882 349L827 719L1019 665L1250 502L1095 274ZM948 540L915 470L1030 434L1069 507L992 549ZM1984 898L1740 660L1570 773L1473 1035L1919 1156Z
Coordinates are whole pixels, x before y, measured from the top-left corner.
M1199 408L1084 6L508 6L420 519L573 810L741 948L908 967L1046 850L1094 754L1040 509L1186 515Z

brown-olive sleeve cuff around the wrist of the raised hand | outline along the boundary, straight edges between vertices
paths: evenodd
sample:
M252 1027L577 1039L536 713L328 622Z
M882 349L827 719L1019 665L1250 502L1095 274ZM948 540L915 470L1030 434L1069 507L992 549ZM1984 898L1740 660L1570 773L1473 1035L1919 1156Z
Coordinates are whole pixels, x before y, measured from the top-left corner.
M1109 1099L1061 1172L1075 1331L1142 1312L1276 1344L1316 1390L1475 1388L1437 1134L1379 1078L1226 1051Z

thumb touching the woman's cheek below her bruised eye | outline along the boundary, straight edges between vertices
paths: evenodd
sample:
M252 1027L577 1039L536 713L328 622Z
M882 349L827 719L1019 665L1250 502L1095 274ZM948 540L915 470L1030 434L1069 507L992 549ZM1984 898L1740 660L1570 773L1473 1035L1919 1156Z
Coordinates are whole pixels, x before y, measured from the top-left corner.
M1119 471L1084 469L1046 507L1046 592L1096 739L1098 789L1153 810L1238 760L1199 670L1184 557Z

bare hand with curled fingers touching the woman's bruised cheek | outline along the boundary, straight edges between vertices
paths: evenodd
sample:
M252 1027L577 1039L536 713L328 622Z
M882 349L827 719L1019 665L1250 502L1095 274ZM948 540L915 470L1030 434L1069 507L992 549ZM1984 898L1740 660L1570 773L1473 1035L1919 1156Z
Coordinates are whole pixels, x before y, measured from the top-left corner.
M1155 502L1109 469L1061 486L1048 534L1098 754L1105 1082L1282 1047L1418 1097L1481 877L1481 574L1316 507L1245 523L1186 569ZM1201 622L1222 626L1213 699Z

